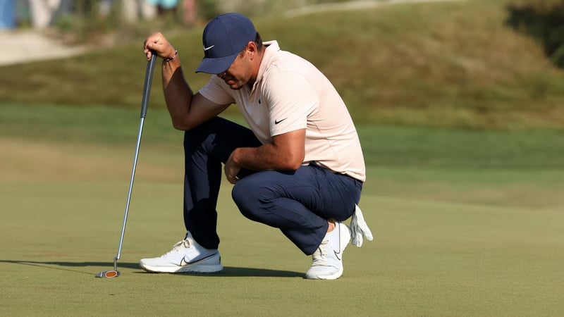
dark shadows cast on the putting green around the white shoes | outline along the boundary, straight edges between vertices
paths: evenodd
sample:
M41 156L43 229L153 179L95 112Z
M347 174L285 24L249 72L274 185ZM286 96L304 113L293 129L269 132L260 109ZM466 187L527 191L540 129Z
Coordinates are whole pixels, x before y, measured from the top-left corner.
M25 266L39 266L42 268L51 268L54 270L61 270L61 271L69 271L75 273L82 273L82 274L89 274L94 275L95 273L86 272L86 271L78 271L72 268L81 268L87 266L100 266L105 267L108 270L114 268L113 262L57 262L57 261L18 261L18 260L0 260L0 263L12 263L12 264L21 264ZM121 263L118 262L118 270L119 268L139 268L139 263ZM96 272L97 273L97 272ZM145 271L139 271L135 273L146 273L146 274L153 274L148 273ZM217 276L217 277L270 277L270 278L302 278L304 276L303 273L300 272L293 272L293 271L280 271L280 270L269 270L266 268L237 268L233 266L226 266L223 268L221 273L217 274L180 274L180 275L187 275L187 276Z

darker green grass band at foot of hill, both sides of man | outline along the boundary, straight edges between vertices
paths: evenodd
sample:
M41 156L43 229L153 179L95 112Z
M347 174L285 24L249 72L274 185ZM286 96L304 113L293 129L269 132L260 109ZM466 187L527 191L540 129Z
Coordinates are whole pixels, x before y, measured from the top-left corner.
M0 107L0 135L39 141L120 144L135 142L140 113L106 106ZM243 123L240 116L228 118ZM243 123L244 124L244 123ZM562 130L460 130L357 123L367 164L424 168L564 168ZM178 147L183 133L168 112L151 108L144 125L147 144Z

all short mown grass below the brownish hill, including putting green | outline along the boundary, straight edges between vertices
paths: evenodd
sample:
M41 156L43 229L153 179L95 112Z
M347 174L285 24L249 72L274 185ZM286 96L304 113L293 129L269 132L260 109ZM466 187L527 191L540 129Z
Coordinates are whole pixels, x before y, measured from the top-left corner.
M94 275L113 266L138 111L20 105L0 118L6 316L564 313L563 136L553 130L360 124L369 162L361 207L376 240L348 247L340 280L304 280L309 257L243 218L227 184L218 207L225 272L155 275L137 261L183 235L183 157L166 111L150 109L123 275L106 280Z

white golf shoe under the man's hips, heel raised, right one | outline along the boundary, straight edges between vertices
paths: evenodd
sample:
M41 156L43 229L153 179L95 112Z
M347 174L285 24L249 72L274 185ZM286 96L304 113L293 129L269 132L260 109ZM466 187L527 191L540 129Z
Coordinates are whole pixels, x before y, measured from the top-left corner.
M312 254L312 266L305 278L336 280L343 275L343 251L350 241L350 230L344 223L336 223L335 229L325 235Z

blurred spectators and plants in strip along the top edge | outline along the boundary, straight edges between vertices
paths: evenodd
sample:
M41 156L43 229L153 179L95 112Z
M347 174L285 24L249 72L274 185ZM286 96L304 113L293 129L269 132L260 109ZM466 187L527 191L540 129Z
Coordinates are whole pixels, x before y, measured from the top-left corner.
M104 20L110 26L154 20L164 15L184 25L194 25L221 12L257 15L343 0L1 0L1 28L68 26L77 18ZM364 1L366 2L366 1Z

